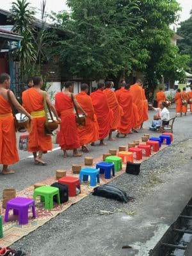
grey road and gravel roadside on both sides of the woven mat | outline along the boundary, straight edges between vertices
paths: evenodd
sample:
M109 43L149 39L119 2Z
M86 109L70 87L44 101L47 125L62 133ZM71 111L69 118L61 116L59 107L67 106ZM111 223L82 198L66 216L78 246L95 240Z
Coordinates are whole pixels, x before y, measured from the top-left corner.
M153 115L151 111L150 120ZM174 115L173 109L171 115ZM122 204L87 196L43 227L20 239L13 247L22 247L28 255L34 256L148 255L148 251L156 245L192 195L191 122L191 114L177 118L173 145L143 162L138 177L125 173L113 180L112 184L136 197L134 203ZM149 124L146 122L144 126L148 127ZM107 147L93 147L86 156L100 156L108 152L109 148L127 145L143 133L149 131L143 129L128 138L109 141ZM54 175L57 169L70 168L72 163L83 162L83 157L63 159L60 150L45 156L49 163L47 166L34 166L28 156L26 152L21 153L22 160L13 166L17 170L14 175L0 177L1 191L10 187L21 190ZM100 210L113 214L101 215ZM123 245L130 245L132 249L123 250Z

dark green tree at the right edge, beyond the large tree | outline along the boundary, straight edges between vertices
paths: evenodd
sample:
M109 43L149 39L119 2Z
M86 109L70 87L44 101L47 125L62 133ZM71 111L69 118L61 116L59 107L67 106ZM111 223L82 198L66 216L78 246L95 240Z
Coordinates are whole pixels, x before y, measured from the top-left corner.
M191 17L180 23L180 28L177 29L177 33L184 38L178 41L178 46L181 54L189 54L189 72L192 72L192 10Z

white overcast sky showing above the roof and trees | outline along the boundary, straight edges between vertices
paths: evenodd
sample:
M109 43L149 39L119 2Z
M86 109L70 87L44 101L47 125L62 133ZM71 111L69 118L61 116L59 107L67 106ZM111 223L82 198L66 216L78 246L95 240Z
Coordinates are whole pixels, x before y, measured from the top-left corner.
M182 6L182 12L180 13L180 21L186 20L189 18L189 12L192 10L192 1L191 0L177 0ZM12 6L10 0L0 0L0 8L4 10L9 10ZM35 8L40 8L41 0L29 0L31 5ZM61 10L68 10L65 0L47 0L47 12L59 12Z

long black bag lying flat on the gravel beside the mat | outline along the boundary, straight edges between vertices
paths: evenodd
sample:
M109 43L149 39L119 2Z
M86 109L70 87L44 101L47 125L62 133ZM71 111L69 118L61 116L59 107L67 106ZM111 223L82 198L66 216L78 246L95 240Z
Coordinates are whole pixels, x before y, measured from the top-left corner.
M92 195L111 198L125 203L127 203L128 200L132 200L131 197L127 196L125 191L107 184L94 188Z

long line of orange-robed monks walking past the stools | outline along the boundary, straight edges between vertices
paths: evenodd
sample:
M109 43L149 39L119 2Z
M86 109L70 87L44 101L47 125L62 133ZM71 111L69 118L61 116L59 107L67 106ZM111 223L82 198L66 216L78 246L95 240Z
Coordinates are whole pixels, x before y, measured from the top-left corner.
M44 91L42 77L33 77L33 87L22 93L22 106L10 92L13 106L20 113L28 116L33 124L29 133L28 151L33 152L35 164L46 164L42 159L43 154L52 150L51 136L46 135L44 124L46 113L44 109ZM81 84L81 92L74 95L73 84L68 81L62 92L56 93L55 105L46 94L46 103L60 122L59 142L63 156L67 157L67 150L73 150L73 156L81 156L77 148L82 147L83 152L88 152L88 144L95 145L100 140L100 145L106 145L104 138L112 137L113 131L127 134L141 128L148 119L148 103L145 90L140 80L129 86L122 82L121 88L114 92L113 82L98 83L97 90L88 95L88 85ZM0 164L3 164L1 174L14 173L8 165L19 161L17 152L14 118L11 104L8 100L10 76L0 74ZM79 113L86 116L86 125L77 127L74 106Z

